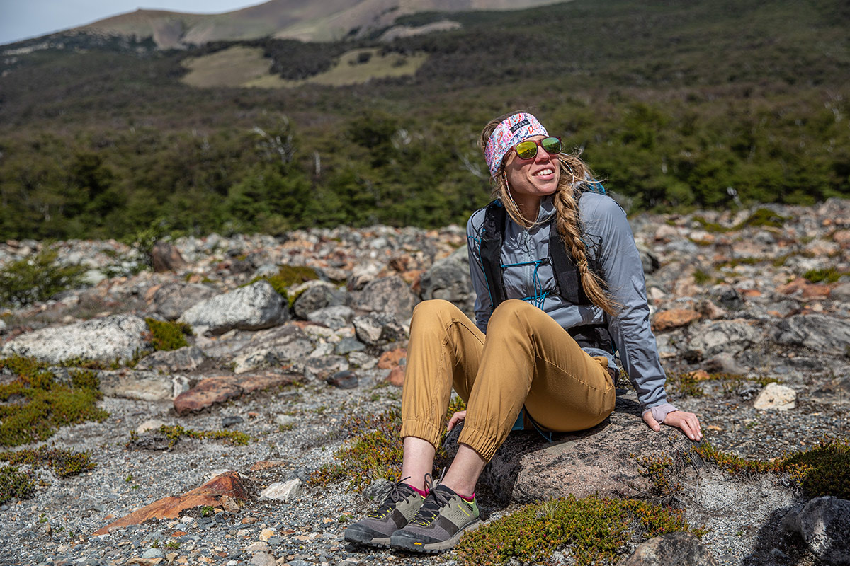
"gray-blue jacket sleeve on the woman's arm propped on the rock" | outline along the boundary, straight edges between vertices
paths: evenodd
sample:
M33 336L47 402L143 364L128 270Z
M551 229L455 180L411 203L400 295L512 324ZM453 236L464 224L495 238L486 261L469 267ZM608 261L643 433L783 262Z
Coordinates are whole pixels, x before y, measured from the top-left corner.
M598 263L618 310L609 320L609 332L644 412L658 407L653 414L663 421L676 409L666 400L666 376L649 325L643 265L626 212L613 199L599 197L581 213L586 233L599 243Z

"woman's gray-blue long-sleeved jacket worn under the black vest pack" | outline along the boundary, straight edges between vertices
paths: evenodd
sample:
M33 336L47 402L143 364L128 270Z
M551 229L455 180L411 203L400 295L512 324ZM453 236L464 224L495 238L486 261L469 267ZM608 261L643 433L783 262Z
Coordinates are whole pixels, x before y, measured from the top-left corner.
M508 298L523 299L537 305L563 328L582 324L607 323L614 339L623 368L638 392L644 409L656 407L653 415L660 422L667 412L676 410L667 404L655 335L649 327L649 305L643 266L635 246L632 229L620 205L604 194L583 193L579 200L579 216L588 243L598 243L601 257L595 258L602 267L610 297L622 305L616 317L608 317L598 306L573 305L557 293L551 263L534 265L548 257L548 221L555 214L552 197L541 200L537 224L526 231L508 217L501 247L505 292ZM487 332L492 305L484 279L479 246L484 209L476 210L467 222L469 270L475 289L475 324ZM588 245L589 253L597 246ZM588 258L590 259L590 258ZM524 265L515 265L524 264ZM596 348L585 348L591 356L606 356L609 367L616 368L615 355Z

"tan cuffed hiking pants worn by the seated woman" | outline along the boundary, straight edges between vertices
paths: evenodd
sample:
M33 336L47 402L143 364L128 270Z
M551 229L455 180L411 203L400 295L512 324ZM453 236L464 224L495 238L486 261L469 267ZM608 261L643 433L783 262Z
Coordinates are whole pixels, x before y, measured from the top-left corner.
M589 356L552 317L523 300L506 300L486 336L460 309L427 300L413 311L402 395L401 436L433 446L445 426L451 388L467 402L458 442L490 461L525 405L536 423L589 429L614 411L604 356Z

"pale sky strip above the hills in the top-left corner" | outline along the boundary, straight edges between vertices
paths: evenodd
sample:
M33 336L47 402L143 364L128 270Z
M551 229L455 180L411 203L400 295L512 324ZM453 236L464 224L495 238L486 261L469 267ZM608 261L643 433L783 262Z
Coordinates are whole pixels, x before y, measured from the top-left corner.
M219 14L264 0L0 0L0 45L90 24L138 8Z

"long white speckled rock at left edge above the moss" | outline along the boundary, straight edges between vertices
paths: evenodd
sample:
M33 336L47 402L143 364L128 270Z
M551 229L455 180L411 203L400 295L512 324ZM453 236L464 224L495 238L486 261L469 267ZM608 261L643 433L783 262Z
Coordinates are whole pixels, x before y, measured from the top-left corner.
M74 358L129 361L150 348L147 336L148 325L141 318L112 315L21 334L3 346L3 356L32 356L53 364Z

